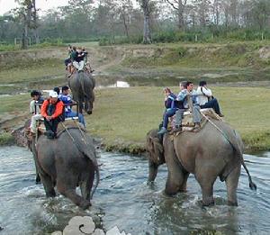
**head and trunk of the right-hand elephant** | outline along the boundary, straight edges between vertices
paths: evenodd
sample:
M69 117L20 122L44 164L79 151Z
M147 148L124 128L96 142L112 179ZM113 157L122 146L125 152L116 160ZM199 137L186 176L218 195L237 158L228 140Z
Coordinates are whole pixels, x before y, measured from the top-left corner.
M147 134L146 149L148 151L148 182L153 182L157 176L157 168L165 163L162 140L157 135L157 129L151 130Z

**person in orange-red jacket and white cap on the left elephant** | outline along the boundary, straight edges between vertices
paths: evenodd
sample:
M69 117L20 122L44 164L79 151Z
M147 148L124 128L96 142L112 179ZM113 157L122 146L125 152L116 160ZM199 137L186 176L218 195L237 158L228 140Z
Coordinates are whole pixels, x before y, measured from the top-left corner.
M58 122L63 122L64 104L58 99L55 91L49 92L49 99L45 100L41 106L41 115L44 117L46 134L49 139L56 138Z

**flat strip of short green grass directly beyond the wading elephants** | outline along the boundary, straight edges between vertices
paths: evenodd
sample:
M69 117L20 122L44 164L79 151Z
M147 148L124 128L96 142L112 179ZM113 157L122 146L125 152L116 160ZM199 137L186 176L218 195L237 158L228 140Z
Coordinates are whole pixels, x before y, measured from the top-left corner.
M178 90L172 88L175 92ZM220 101L225 121L241 134L246 152L269 150L270 126L266 125L270 115L269 88L215 86L212 91ZM25 95L2 97L1 102L8 105L1 108L1 113L10 112L10 106L26 111L25 99ZM87 131L101 139L103 149L142 154L145 136L157 128L162 113L162 87L103 88L95 90L94 112L85 114L85 121ZM4 124L7 130L12 130L19 120L25 120L27 114L19 119L18 116Z

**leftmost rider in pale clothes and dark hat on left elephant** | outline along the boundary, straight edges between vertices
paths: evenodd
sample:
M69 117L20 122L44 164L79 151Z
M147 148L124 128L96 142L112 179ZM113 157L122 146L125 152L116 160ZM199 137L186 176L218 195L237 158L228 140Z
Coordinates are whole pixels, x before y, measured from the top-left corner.
M31 135L33 135L37 132L37 121L42 118L42 115L40 114L39 104L42 104L44 100L41 97L40 92L35 91L35 90L31 92L31 98L32 98L32 101L30 103L30 113L32 114L32 116L31 116L31 124L30 124L30 133Z

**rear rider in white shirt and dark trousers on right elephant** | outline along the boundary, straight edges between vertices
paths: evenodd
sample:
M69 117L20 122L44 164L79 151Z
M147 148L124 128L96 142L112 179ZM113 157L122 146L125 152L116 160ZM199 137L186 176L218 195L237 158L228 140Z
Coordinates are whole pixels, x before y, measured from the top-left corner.
M207 84L205 81L201 81L199 83L199 86L197 88L197 99L198 104L202 109L205 108L212 108L215 113L217 113L220 117L223 117L224 115L220 113L220 104L216 98L213 98L211 96L211 89L207 87Z

